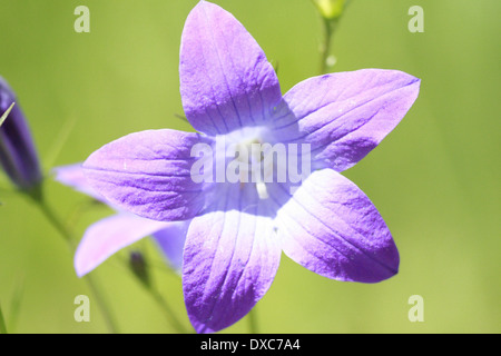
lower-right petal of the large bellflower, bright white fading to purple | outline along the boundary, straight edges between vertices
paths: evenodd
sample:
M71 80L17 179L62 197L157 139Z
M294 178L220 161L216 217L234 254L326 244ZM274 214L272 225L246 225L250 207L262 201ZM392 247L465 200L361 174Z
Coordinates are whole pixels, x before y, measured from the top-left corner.
M291 197L271 190L284 253L310 270L338 280L375 283L395 275L399 253L369 198L332 169L314 171Z

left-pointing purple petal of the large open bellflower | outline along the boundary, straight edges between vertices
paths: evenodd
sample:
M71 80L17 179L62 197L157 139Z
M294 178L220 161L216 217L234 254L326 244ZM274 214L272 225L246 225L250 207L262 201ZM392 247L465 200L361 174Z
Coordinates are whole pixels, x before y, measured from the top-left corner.
M185 220L204 206L203 184L191 179L197 134L131 134L94 152L84 164L89 185L112 205L154 220ZM208 144L207 144L208 145Z

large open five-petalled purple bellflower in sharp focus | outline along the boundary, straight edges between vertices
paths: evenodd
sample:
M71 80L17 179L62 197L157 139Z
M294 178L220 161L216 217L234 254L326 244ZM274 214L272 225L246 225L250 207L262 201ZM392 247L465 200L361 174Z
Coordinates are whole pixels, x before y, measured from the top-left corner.
M207 1L186 20L179 76L185 115L198 132L131 134L94 152L84 168L92 188L121 209L160 221L189 220L183 289L198 333L244 317L271 287L282 251L337 280L376 283L397 273L389 228L340 172L400 122L418 97L419 79L364 69L311 78L283 96L257 42ZM298 185L275 174L256 181L193 175L194 147L215 152L205 175L213 166L218 171L222 150L256 142L306 145L312 171Z

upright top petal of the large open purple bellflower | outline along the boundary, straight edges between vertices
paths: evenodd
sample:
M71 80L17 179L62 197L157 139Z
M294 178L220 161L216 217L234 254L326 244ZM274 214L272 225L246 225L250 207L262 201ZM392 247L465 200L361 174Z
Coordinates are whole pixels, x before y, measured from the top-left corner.
M186 117L210 136L263 122L282 99L275 71L254 38L207 1L186 20L179 77Z

